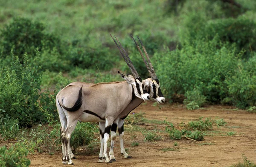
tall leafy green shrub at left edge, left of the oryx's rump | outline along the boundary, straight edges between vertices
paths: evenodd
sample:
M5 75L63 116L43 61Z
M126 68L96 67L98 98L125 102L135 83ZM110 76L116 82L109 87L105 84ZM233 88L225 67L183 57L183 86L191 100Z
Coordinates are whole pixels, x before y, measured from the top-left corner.
M3 68L0 77L0 109L12 119L18 119L21 126L32 126L41 120L35 102L39 99L41 68L37 52L32 61L24 54L23 64L12 53L12 63Z

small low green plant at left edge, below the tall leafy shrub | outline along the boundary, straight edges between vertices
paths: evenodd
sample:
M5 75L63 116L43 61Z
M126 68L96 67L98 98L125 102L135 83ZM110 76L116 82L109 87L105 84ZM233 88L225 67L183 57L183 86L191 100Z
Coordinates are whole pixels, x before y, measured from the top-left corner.
M19 132L19 121L18 119L11 119L4 110L0 110L0 134L4 140L15 139ZM3 114L2 114L3 113Z

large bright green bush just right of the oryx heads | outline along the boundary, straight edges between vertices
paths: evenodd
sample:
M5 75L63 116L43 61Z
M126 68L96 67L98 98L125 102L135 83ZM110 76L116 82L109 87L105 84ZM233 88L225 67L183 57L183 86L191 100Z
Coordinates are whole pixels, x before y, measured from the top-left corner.
M237 57L233 48L218 45L218 37L211 41L196 40L185 48L154 55L157 76L166 98L174 94L185 94L197 88L201 98L219 103L228 94L225 79L232 76L237 68ZM162 55L165 55L164 57Z

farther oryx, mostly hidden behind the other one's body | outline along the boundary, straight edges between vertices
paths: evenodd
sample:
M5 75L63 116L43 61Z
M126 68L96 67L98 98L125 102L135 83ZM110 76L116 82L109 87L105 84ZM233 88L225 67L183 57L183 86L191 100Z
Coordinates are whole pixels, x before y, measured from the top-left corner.
M138 37L138 39L139 39L139 37ZM133 38L133 40L134 40L134 38ZM145 47L143 46L142 42L140 41L140 43L141 43L141 45L143 47L143 51L144 51L148 61L145 60L145 58L143 56L143 53L140 50L140 47L137 44L137 42L135 40L134 40L134 42L135 42L135 44L136 44L136 46L137 46L137 48L138 48L138 50L139 50L139 52L141 54L141 57L143 58L143 61L144 61L145 65L146 65L146 67L148 69L148 72L149 72L149 74L151 76L151 78L148 78L148 79L145 79L145 80L142 81L142 83L144 85L144 88L146 89L146 91L148 93L150 93L151 98L153 98L158 103L163 103L163 102L165 102L165 98L163 97L163 93L161 92L159 80L157 79L157 75L156 75L156 73L154 71L153 66L151 65L151 62L150 62L148 54L147 54L147 52L145 50ZM73 82L70 85L77 85L77 86L80 86L80 87L81 86L89 87L89 86L91 86L93 84L92 83L85 83L85 82ZM137 108L142 102L143 102L142 99L135 97L134 99L131 100L129 105L124 110L122 110L120 115L114 120L114 122L112 124L112 127L111 127L111 149L110 149L110 152L109 152L110 161L116 161L116 159L114 157L114 154L113 154L113 147L114 147L114 142L115 142L115 139L116 139L116 129L117 129L117 127L118 127L119 138L120 138L121 153L124 155L125 158L131 158L131 156L128 156L128 154L125 152L124 143L123 143L124 119L128 116L128 114L132 110ZM104 162L104 159L102 159L102 156L103 156L103 146L104 146L104 141L102 139L102 135L103 135L102 132L104 131L104 128L105 128L105 122L99 122L99 128L100 128L100 134L101 134L100 135L101 149L100 149L100 153L99 153L99 162ZM72 152L70 154L73 155Z

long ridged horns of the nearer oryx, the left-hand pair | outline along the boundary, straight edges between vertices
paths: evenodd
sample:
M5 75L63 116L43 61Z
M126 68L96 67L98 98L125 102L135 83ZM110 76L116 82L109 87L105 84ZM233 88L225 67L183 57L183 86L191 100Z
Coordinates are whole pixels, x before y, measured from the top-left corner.
M110 33L109 33L110 34ZM135 79L140 78L140 75L138 74L138 72L136 71L136 69L134 68L134 65L131 62L131 59L129 58L128 54L126 53L125 49L122 47L121 43L119 42L119 40L116 38L116 36L114 35L114 37L116 38L117 42L119 43L119 45L117 44L116 40L112 37L112 35L110 34L111 38L113 39L113 41L115 42L118 50L120 51L120 53L122 54L122 57L125 59L126 64L128 65L129 69L131 70L131 74L134 76ZM121 50L121 48L122 50Z

